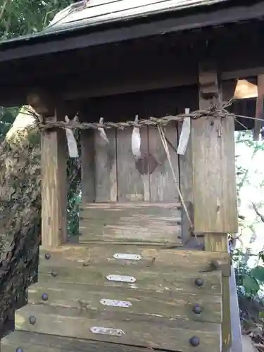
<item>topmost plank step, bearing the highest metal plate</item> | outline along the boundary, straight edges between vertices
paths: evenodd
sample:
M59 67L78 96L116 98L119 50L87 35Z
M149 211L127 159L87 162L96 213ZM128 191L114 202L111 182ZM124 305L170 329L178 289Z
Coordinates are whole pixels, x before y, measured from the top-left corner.
M114 258L115 253L136 254L140 260ZM46 258L49 258L48 260ZM212 260L230 263L229 253L210 251L183 251L158 246L136 246L122 244L89 244L89 246L61 246L47 251L40 249L39 270L51 270L57 266L82 268L83 265L129 265L136 270L148 268L156 272L161 268L178 272L205 272L210 270Z

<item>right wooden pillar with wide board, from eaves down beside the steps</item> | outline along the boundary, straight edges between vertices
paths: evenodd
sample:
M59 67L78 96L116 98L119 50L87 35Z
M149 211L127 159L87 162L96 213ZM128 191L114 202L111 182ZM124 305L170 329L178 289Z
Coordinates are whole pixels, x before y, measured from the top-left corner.
M199 108L221 98L212 65L199 68ZM194 232L204 234L206 251L227 251L227 233L237 232L234 119L192 120ZM222 278L222 351L231 346L229 278Z

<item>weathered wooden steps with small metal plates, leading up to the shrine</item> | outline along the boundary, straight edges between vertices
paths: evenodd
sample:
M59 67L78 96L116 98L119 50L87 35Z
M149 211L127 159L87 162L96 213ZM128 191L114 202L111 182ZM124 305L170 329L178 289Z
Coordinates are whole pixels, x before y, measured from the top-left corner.
M39 282L1 352L220 352L222 272L212 260L226 274L227 253L105 243L41 249Z

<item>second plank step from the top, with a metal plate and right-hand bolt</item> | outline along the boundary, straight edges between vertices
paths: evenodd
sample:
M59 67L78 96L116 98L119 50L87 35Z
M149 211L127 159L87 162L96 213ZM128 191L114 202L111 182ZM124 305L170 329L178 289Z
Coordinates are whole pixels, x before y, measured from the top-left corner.
M131 282L112 281L108 275L131 277ZM56 282L92 284L104 287L125 287L194 294L222 294L221 272L180 272L172 267L139 268L134 265L87 265L82 268L43 267L39 268L42 280L54 279ZM45 276L45 277L44 277ZM203 279L203 286L197 287L196 278Z

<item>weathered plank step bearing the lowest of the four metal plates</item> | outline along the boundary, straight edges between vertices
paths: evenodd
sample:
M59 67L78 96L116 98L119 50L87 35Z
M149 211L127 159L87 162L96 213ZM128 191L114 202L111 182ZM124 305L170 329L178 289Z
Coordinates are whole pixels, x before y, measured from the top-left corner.
M26 306L16 312L15 327L30 332L56 334L59 336L77 337L79 339L94 339L97 341L118 342L134 346L163 348L174 351L192 351L191 337L199 337L199 352L220 351L220 325L188 320L163 319L134 315L130 320L118 318L115 314L109 316L102 313L99 319L84 315L85 309L79 310L79 316L73 308L51 306ZM92 315L92 314L91 314ZM35 318L34 324L32 317ZM94 334L92 327L120 329L118 336L111 334Z

